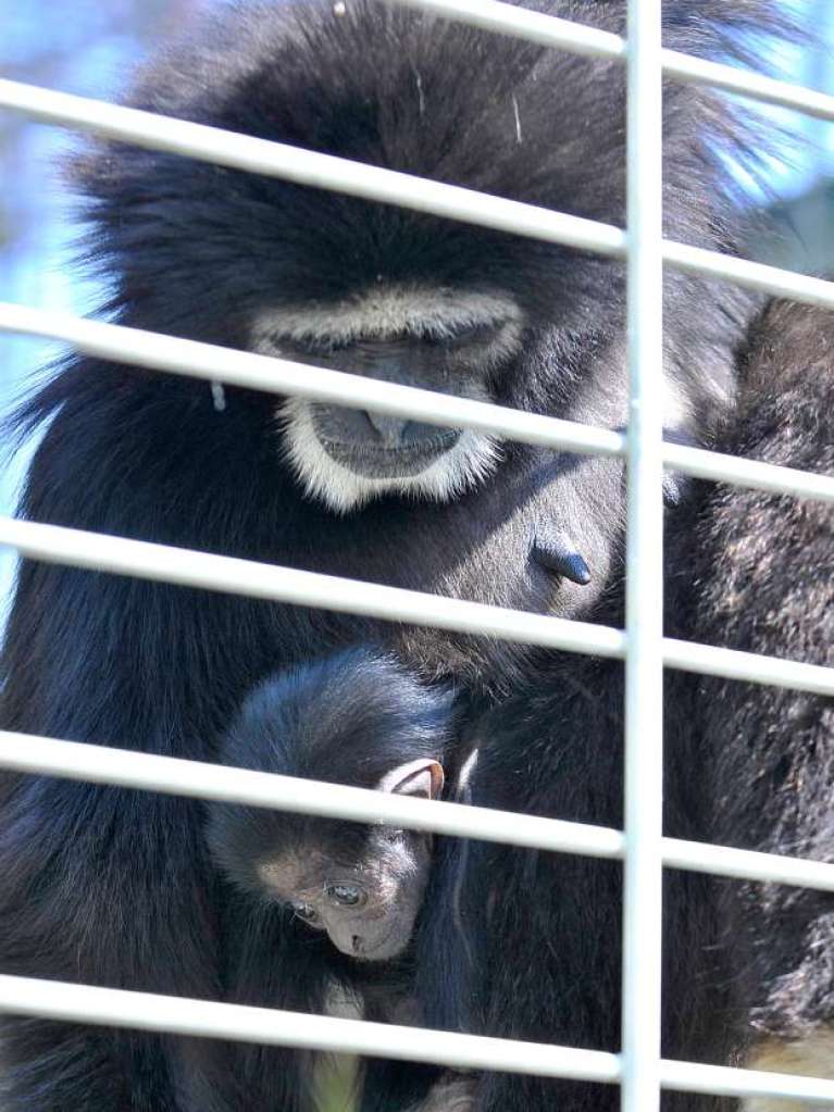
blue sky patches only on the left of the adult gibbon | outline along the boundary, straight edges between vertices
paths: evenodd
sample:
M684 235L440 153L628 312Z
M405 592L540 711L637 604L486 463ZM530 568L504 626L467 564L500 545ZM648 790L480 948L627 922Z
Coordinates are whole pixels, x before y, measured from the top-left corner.
M133 66L208 0L0 0L0 76L118 97ZM72 265L73 208L61 159L79 139L0 109L0 300L85 314L99 290ZM0 414L58 353L0 335ZM13 510L27 453L0 451L0 513ZM0 622L16 558L0 550Z

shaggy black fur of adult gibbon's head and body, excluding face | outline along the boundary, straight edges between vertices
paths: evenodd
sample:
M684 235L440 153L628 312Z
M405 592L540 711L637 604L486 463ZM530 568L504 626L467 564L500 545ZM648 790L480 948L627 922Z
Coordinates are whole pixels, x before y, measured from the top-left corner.
M623 7L542 4L613 30L623 29ZM728 31L768 26L772 7L668 0L666 40L715 54ZM152 66L131 102L623 219L619 67L370 0L354 0L344 18L329 0L241 8ZM737 218L717 148L741 150L742 131L711 91L669 85L665 141L668 235L732 250ZM494 376L495 400L603 425L626 419L616 262L115 143L91 151L78 175L90 201L90 255L111 281L109 311L123 324L235 346L247 342L246 322L259 308L335 297L380 275L453 291L499 287L517 298L526 330L522 354ZM751 311L745 295L668 275L667 380L679 401L669 435L709 441ZM79 358L22 417L23 426L47 420L21 504L34 520L620 618L617 461L510 446L489 479L449 505L388 497L337 518L301 496L281 457L272 398L229 390L219 414L205 384ZM543 517L569 530L592 586L554 582L530 563L530 535ZM476 697L506 692L529 667L523 648L497 642L27 563L4 651L2 724L210 759L260 677L369 636L394 645L424 676L458 677ZM606 671L562 663L568 718L578 706L570 693L602 684L597 668ZM597 771L616 749L617 714L618 699L604 693L583 712ZM532 804L555 806L546 793L564 772L548 757ZM587 790L582 767L570 766L568 783L577 813L594 811L578 802ZM616 798L616 777L600 791ZM219 994L227 941L199 804L12 775L0 798L3 971ZM599 914L616 917L613 907ZM549 945L555 923L544 910L536 916ZM528 922L525 946L536 952ZM545 990L554 995L547 972L530 985L532 1014ZM448 987L456 991L454 980ZM576 980L570 995L580 1012L609 990L607 981L592 990ZM178 1108L171 1040L9 1021L2 1041L4 1112Z

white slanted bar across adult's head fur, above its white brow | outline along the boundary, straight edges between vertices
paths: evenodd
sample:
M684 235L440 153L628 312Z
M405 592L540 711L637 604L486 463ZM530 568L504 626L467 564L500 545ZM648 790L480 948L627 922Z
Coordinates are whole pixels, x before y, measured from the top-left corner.
M24 112L43 122L78 127L139 146L173 151L186 158L286 178L318 189L334 189L579 250L616 258L625 257L627 250L626 234L608 224L107 101L0 80L0 108ZM664 260L692 274L726 278L752 289L834 308L834 282L820 278L674 240L664 241Z

